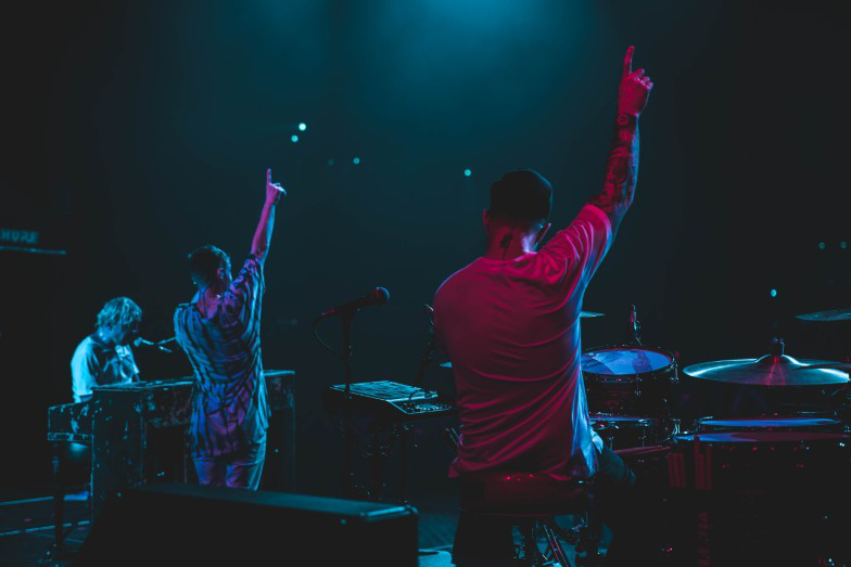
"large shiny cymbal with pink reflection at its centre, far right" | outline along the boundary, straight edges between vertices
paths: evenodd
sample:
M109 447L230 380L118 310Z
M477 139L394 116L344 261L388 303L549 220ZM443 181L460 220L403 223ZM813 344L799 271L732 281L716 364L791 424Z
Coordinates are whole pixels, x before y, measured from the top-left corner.
M848 373L839 362L765 355L758 359L716 360L683 369L687 376L746 386L818 386L844 384Z

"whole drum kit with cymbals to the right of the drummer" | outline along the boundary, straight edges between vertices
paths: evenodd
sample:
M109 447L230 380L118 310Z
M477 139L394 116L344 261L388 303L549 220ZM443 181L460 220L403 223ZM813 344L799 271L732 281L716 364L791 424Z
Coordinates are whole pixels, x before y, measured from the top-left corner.
M798 319L851 321L851 308ZM669 504L678 502L669 508L669 532L678 536L666 544L687 554L677 564L839 565L841 556L846 565L851 554L840 532L851 517L838 502L851 479L851 364L793 358L773 339L759 358L679 370L673 352L642 345L634 307L631 322L632 344L582 353L592 426L639 478L652 477ZM747 391L767 400L767 411L719 404L715 415L686 417L674 401L689 388ZM799 555L784 557L788 550ZM771 554L780 563L765 563Z

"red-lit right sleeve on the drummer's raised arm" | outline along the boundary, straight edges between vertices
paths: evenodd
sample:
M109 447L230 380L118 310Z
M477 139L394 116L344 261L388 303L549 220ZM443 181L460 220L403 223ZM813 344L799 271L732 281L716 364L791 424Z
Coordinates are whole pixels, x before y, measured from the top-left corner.
M611 222L594 205L585 205L576 218L556 233L538 253L558 272L580 271L587 283L609 252Z

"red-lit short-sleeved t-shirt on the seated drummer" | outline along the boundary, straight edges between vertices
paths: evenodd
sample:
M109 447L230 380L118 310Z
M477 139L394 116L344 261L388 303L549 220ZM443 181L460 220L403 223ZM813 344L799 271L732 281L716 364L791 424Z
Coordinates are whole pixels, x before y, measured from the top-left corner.
M449 476L595 473L593 443L602 443L581 379L580 311L611 240L606 214L585 205L539 252L478 258L440 286L434 332L453 364L461 422Z

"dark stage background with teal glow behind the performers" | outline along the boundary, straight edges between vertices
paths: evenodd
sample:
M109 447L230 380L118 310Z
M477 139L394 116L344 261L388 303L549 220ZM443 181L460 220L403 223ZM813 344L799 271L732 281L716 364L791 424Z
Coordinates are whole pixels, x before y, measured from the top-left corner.
M320 397L343 370L314 317L385 286L390 302L356 320L355 379L412 382L421 304L482 249L490 183L539 170L556 228L599 190L631 43L656 89L635 205L584 305L606 317L583 323L584 347L622 343L635 304L645 344L681 366L763 355L777 334L791 355L843 359L841 325L793 318L851 305L841 4L7 8L0 229L67 255L0 252L0 491L49 486L46 410L71 401L72 352L106 299L132 297L143 336L166 338L193 293L186 254L215 243L242 262L268 166L289 196L266 268L265 365L297 373L296 489L338 494L343 444ZM339 321L321 328L340 345ZM179 352L137 360L148 379L190 373ZM449 378L432 368L426 384ZM411 490L444 482L442 425L418 426Z

